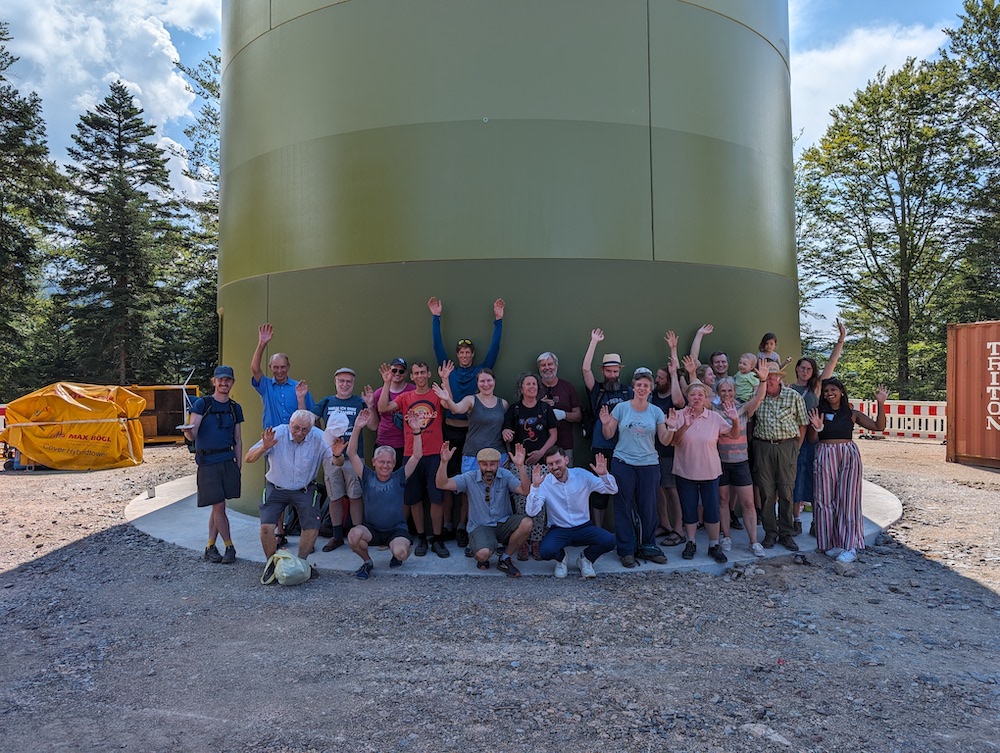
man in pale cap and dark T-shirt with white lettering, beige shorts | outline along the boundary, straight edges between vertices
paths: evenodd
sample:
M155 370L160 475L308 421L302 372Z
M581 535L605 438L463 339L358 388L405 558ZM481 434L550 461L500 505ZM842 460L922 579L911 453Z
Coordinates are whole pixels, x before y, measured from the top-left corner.
M313 413L322 419L324 426L328 426L330 419L337 414L346 419L345 441L350 441L351 434L355 430L354 421L361 411L370 407L373 394L371 387L365 387L364 397L355 395L355 378L354 369L346 366L337 369L333 375L334 383L337 385L336 394L327 395L313 409ZM374 416L369 428L375 428ZM364 452L364 437L359 436L358 453L364 457ZM330 459L323 461L323 478L326 483L326 493L330 498L330 522L333 525L333 536L323 546L323 551L332 552L344 543L345 498L350 504L351 520L354 523L359 523L364 514L364 508L361 506L361 481L350 463L336 465Z

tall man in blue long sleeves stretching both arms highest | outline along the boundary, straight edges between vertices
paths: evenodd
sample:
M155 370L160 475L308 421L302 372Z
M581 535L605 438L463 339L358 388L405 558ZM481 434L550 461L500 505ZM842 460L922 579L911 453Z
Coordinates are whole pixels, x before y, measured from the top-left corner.
M493 339L490 341L490 348L486 352L486 357L478 366L473 364L476 357L476 346L472 340L462 338L455 346L455 368L448 377L448 385L451 388L451 399L460 403L469 395L475 395L478 389L476 376L483 367L493 369L496 367L497 357L500 355L500 338L503 336L503 315L506 304L503 298L497 298L493 302ZM449 360L448 351L444 347L444 338L441 336L441 312L444 304L440 298L431 298L427 301L427 308L431 312L431 337L434 341L434 358L438 366L443 366ZM454 460L448 467L448 472L452 475L462 470L462 449L465 445L465 436L469 431L469 418L462 414L457 415L451 411L444 414L444 438L453 447ZM453 497L450 492L444 495L444 520L446 530L452 527L452 503ZM456 543L460 547L465 547L469 543L469 537L464 527L464 521L468 517L468 501L464 498L461 501L459 513L459 528L456 532Z

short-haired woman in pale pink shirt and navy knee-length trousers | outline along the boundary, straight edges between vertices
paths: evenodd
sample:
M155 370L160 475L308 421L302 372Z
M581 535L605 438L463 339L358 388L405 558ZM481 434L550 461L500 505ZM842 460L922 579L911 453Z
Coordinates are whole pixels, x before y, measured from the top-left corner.
M667 424L668 428L675 427L674 476L688 537L681 557L693 559L698 549L694 537L698 530L700 499L708 531L708 555L716 562L727 562L719 545L719 477L722 475L719 437L726 433L733 439L739 437L740 416L733 403L723 406L725 418L711 410L711 392L704 384L692 384L687 397L688 406L673 415Z

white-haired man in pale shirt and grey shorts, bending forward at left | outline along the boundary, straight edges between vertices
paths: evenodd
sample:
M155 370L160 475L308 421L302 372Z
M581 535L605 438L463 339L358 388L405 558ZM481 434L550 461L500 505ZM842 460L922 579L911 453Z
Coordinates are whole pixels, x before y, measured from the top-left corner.
M344 452L343 437L327 444L323 432L315 426L311 411L297 410L287 424L264 430L257 444L247 450L244 460L255 463L266 456L264 499L260 503L260 545L270 558L278 548L274 528L286 505L299 514L302 535L299 537L299 557L313 552L319 533L320 495L316 490L316 474L324 460L340 459Z

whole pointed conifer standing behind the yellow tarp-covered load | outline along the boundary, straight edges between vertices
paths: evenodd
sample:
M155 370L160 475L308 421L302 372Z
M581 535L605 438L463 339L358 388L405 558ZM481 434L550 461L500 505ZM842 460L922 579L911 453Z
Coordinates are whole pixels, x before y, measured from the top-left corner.
M79 377L159 381L155 322L175 252L176 206L155 129L121 82L80 118L69 148L73 233L61 277Z

